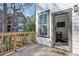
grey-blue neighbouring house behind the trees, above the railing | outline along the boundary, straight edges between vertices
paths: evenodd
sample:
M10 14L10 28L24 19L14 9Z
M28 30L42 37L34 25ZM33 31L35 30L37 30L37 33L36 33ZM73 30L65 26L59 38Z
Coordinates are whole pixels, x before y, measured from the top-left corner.
M20 13L20 12L19 12ZM13 15L10 14L10 13L7 13L8 14L8 17L12 17L11 19L8 19L8 20L11 20L11 31L10 32L24 32L25 31L25 23L26 23L26 18L25 16L20 13L19 15L16 15L15 17L15 21L13 21ZM16 13L17 14L17 13ZM3 20L4 19L4 15L3 15L3 11L0 10L0 33L1 32L7 32L7 21ZM22 23L23 26L19 26L19 24ZM3 30L3 24L4 24L4 30ZM19 31L19 30L23 30L23 31Z

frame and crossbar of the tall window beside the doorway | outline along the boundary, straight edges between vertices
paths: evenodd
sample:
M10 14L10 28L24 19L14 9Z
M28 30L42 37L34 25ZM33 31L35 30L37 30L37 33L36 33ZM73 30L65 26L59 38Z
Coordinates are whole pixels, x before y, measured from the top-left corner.
M46 23L42 22L42 24L41 24L41 23L40 23L40 15L43 15L43 17L44 17L44 14L47 14L47 22L46 22ZM39 28L38 28L38 37L45 37L45 38L48 38L48 36L49 36L49 35L48 35L49 10L39 13L38 18L39 18L39 21L38 21L38 26L39 26ZM46 34L46 35L41 35L41 34L40 34L40 28L41 28L42 26L46 26L46 27L47 27L47 34Z

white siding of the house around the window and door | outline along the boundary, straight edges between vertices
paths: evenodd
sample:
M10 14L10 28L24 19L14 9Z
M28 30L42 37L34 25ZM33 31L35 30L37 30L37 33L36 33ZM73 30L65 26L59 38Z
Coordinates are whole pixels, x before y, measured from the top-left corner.
M69 8L72 8L72 52L73 53L76 53L76 54L79 54L79 12L74 12L74 5L78 5L79 4L75 4L75 3L66 3L66 4L63 4L63 3L53 3L53 4L37 4L39 5L40 7L37 6L37 11L36 11L36 24L38 24L38 13L42 12L42 11L45 11L45 10L50 10L51 13L54 13L54 12L58 12L58 11L62 11L62 10L66 10L66 9L69 9ZM38 32L38 25L36 25L36 32ZM53 24L52 24L52 20L51 20L51 16L50 16L50 39L49 38L46 38L43 40L43 38L39 38L37 36L37 42L39 42L39 40L42 40L43 41L51 41L52 43L52 27L53 27ZM43 44L42 42L40 42L41 44ZM44 43L46 45L49 44L48 43ZM51 46L51 44L50 44Z

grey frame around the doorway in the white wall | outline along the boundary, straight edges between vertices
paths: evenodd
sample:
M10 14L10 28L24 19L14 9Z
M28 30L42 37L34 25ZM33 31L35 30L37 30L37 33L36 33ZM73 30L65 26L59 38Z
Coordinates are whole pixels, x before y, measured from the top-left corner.
M68 13L68 18L69 18L69 23L68 23L68 51L72 52L72 8L66 9L66 10L62 10L62 11L57 11L54 13L51 13L51 19L52 19L52 46L54 47L54 43L55 43L55 29L54 29L54 16L55 15L60 15L60 14L64 14L64 13Z

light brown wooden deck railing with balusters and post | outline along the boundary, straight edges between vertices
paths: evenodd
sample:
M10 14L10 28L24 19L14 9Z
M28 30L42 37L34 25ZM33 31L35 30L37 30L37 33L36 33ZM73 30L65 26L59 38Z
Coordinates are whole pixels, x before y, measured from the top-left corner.
M18 48L35 42L35 32L13 32L0 34L0 55L16 51Z

